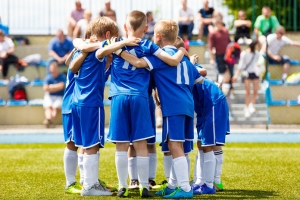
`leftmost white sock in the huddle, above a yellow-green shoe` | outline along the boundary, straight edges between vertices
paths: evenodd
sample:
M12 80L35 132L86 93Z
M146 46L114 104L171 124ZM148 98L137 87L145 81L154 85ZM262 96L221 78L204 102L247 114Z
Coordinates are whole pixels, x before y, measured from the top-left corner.
M66 175L66 186L69 186L72 183L76 182L75 176L77 162L77 151L72 151L66 147L64 151L64 169Z

